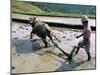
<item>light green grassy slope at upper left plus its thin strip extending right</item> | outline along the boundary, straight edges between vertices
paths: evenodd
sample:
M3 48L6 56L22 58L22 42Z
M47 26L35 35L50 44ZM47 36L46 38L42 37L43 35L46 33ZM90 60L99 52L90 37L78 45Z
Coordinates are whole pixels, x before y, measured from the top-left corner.
M38 16L55 16L55 17L74 17L80 18L82 14L76 13L63 13L58 11L45 11L38 6L33 5L31 2L23 2L12 0L12 13L19 13L25 15L38 15ZM89 18L95 18L95 15L87 15Z

